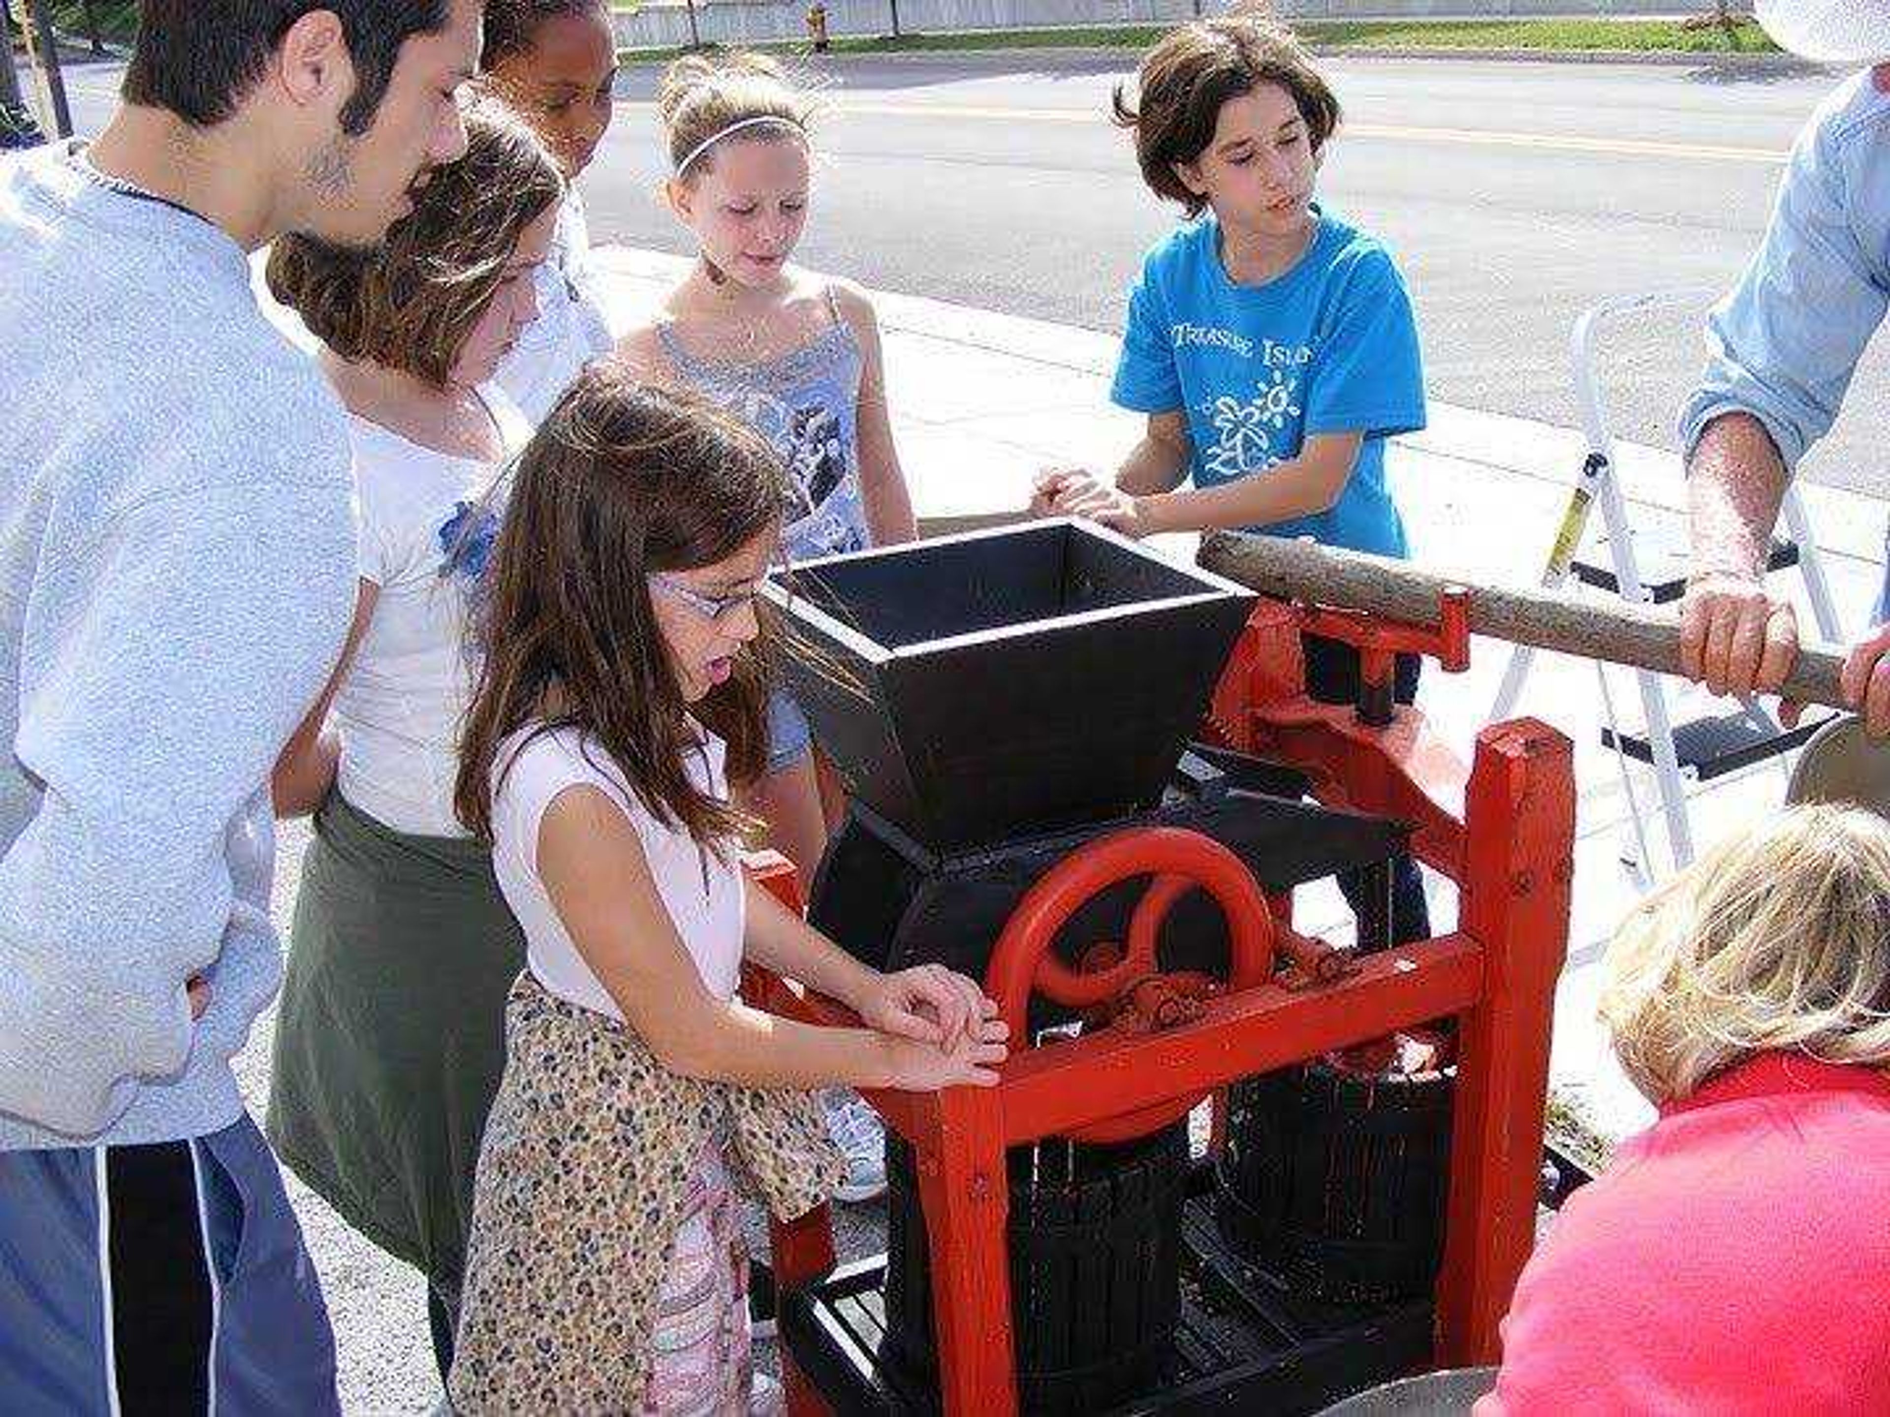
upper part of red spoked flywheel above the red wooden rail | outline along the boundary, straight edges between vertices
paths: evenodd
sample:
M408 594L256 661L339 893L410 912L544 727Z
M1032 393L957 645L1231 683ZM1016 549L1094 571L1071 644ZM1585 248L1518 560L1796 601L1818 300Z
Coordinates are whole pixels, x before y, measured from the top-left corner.
M1051 948L1057 931L1085 901L1145 875L1153 875L1155 884L1136 907L1121 964L1079 975L1057 958ZM1240 858L1213 837L1185 828L1130 828L1064 856L1024 892L1004 922L985 969L985 992L998 1001L998 1016L1011 1026L1013 1047L1024 1039L1032 992L1068 1007L1087 1007L1153 973L1160 920L1196 886L1213 896L1227 916L1228 984L1247 988L1268 981L1274 973L1274 918Z

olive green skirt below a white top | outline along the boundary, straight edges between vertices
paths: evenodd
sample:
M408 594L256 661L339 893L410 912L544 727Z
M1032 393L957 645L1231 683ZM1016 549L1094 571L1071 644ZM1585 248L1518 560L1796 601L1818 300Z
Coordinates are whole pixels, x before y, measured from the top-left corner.
M268 1139L348 1224L457 1306L525 937L488 846L393 831L340 794L314 828L276 1015Z

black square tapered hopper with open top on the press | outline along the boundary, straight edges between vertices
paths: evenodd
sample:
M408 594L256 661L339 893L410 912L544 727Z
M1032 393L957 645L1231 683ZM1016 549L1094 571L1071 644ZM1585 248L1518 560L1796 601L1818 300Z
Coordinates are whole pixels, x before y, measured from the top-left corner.
M1068 520L809 561L767 595L847 794L934 850L1157 803L1253 603Z

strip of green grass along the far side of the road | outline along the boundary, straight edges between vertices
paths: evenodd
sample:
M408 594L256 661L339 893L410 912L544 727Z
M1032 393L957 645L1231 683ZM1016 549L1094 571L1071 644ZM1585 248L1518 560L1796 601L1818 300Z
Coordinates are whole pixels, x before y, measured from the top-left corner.
M620 6L626 8L626 6ZM833 40L837 55L885 55L973 49L1143 49L1168 26L1096 25L1060 30L960 30L953 34L845 36ZM1633 51L1693 55L1778 53L1765 32L1743 21L1731 30L1682 28L1661 19L1361 19L1304 21L1295 30L1317 49L1542 49ZM758 43L756 49L807 55L805 40ZM626 62L665 62L682 49L624 49Z

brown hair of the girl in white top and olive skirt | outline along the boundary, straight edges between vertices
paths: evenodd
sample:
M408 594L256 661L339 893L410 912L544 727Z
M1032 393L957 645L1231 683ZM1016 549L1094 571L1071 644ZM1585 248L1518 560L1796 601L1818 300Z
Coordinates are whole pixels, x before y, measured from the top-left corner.
M342 359L372 359L444 389L525 227L565 195L544 144L497 98L467 110L467 153L435 168L372 251L282 236L268 291Z

